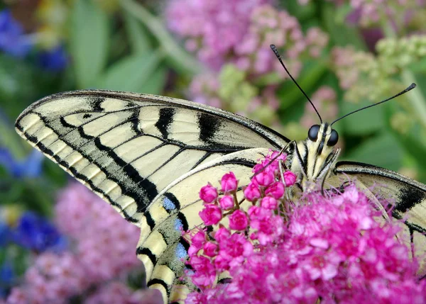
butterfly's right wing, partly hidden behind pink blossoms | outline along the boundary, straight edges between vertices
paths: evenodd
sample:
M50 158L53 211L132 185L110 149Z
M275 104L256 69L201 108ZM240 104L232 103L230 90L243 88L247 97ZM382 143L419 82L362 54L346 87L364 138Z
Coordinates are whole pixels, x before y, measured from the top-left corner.
M414 244L420 276L426 275L426 185L397 172L359 162L337 162L337 176L352 176L356 183L381 198L395 200L393 218L403 219L404 239ZM341 180L342 180L341 179ZM410 244L409 244L410 245Z

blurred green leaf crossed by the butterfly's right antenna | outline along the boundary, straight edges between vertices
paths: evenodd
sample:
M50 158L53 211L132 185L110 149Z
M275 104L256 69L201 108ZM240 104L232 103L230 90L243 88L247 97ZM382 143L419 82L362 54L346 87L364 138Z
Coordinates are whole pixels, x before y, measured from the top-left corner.
M351 111L355 111L364 106L370 106L370 101L360 101L359 103L344 102L341 105L340 113L345 115ZM344 126L344 131L349 135L368 135L377 132L378 130L385 130L386 125L383 119L383 109L386 105L375 106L368 108L358 113L354 113L341 121L336 123L337 128L339 125Z

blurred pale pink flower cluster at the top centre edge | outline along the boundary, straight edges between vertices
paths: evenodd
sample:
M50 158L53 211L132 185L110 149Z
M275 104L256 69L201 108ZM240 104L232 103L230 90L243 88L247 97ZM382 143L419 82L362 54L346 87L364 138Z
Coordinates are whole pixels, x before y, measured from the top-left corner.
M251 12L269 0L174 0L166 10L170 30L186 38L185 46L213 69L222 67L244 41Z

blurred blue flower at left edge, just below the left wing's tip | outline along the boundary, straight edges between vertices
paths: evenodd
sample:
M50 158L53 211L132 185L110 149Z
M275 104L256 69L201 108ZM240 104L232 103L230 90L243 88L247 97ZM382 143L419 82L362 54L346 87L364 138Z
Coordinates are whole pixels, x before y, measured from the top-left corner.
M40 176L43 159L43 154L32 150L26 159L17 161L9 150L0 147L0 166L4 167L11 176L17 178Z

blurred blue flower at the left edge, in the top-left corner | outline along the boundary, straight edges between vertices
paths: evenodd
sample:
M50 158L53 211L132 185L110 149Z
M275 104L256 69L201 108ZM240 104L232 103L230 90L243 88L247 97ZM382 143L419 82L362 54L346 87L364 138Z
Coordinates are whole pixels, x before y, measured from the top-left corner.
M16 57L24 57L32 46L31 39L24 35L21 24L13 19L11 11L0 11L0 50Z

